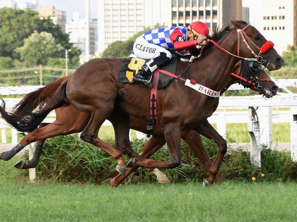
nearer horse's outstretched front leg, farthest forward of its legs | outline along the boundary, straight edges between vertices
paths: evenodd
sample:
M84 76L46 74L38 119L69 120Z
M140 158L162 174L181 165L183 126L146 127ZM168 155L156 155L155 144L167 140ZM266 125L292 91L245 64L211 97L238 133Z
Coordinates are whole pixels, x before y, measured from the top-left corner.
M203 182L203 185L212 185L214 183L214 178L219 172L222 160L227 152L227 141L211 126L208 120L203 121L199 127L195 128L195 131L208 139L213 139L219 148L218 154L208 170L209 177Z

